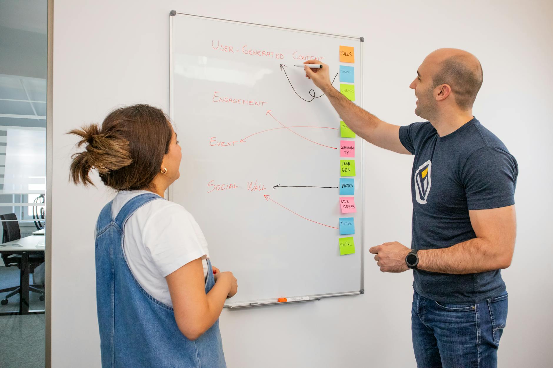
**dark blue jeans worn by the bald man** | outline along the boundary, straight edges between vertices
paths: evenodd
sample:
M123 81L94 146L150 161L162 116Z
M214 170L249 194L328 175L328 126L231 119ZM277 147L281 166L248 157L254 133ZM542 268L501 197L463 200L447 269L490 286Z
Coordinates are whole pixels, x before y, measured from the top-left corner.
M507 320L507 292L478 304L436 302L413 295L411 332L419 368L497 367Z

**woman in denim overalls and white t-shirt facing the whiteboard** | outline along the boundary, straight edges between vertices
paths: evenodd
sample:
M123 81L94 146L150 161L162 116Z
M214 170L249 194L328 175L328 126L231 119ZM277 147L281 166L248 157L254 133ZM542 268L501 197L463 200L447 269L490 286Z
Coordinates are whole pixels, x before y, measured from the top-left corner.
M96 298L103 367L225 367L218 317L236 278L209 260L190 213L163 198L181 149L168 118L144 104L70 134L71 178L117 191L96 223Z

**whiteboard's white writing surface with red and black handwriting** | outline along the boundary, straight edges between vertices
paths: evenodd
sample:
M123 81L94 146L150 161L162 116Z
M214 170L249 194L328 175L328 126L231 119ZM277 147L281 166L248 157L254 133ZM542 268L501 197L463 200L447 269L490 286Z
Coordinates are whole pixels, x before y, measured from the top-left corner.
M354 62L340 62L340 46ZM363 145L294 64L354 67L361 106L363 39L171 12L170 119L182 148L169 199L199 223L212 263L232 271L227 307L363 293ZM285 66L284 66L285 65ZM340 88L340 76L333 86ZM340 157L340 141L355 156ZM341 213L341 160L354 159L355 213ZM353 217L354 234L338 219ZM339 238L355 252L340 255Z

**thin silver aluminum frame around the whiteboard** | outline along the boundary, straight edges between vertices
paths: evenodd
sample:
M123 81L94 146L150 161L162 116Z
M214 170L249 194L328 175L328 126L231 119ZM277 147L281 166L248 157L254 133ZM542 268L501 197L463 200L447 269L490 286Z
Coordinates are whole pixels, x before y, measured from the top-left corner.
M317 35L323 35L323 36L330 36L335 38L342 38L342 39L348 39L348 40L357 40L359 41L359 49L361 54L361 60L359 62L360 70L360 80L361 80L361 86L363 86L363 44L365 42L365 39L363 37L355 37L355 36L348 36L348 35L339 35L339 34L331 34L331 33L323 33L313 30L304 30L304 29L295 29L295 28L287 28L287 27L278 27L275 25L266 25L266 24L258 24L258 23L249 23L249 22L239 22L238 20L229 20L229 19L222 19L222 18L213 18L213 17L202 17L201 15L194 15L194 14L187 14L187 13L181 13L176 12L176 10L171 10L169 13L169 119L171 122L173 122L174 119L174 113L175 113L175 104L174 104L174 83L173 83L173 66L174 66L174 23L173 19L176 15L184 15L185 17L189 18L197 18L197 19L210 19L210 20L218 20L220 22L226 22L226 23L233 23L233 24L242 24L242 25L255 25L257 27L263 27L263 28L273 28L273 29L281 29L281 30L289 30L299 33L309 33L309 34L317 34ZM359 107L363 108L363 87L361 87L361 93L360 93L360 101L359 101ZM359 137L361 138L361 137ZM290 303L298 303L298 302L308 302L308 301L317 301L322 298L331 298L331 297L337 297L337 296L349 296L349 295L362 295L365 292L365 193L364 193L364 181L365 181L365 165L364 165L364 139L361 138L361 184L358 190L359 197L361 198L361 282L359 283L360 287L359 290L356 291L345 291L345 292L337 292L337 293L325 293L325 294L315 294L315 295L302 295L297 297L288 297L289 299L296 299L296 298L308 298L305 300L293 300L290 302L278 302L278 299L259 299L259 300L252 300L252 301L241 301L241 302L226 302L224 307L227 307L229 309L234 308L244 308L244 307L261 307L261 306L270 306L270 305L276 305L276 304L290 304ZM168 189L168 198L170 201L173 201L173 185L169 186Z

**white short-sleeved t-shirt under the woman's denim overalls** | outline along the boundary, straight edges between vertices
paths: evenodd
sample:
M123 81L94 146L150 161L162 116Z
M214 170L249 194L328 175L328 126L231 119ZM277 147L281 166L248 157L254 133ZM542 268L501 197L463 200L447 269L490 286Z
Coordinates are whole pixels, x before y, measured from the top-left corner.
M113 198L117 216L129 199L148 191L121 191ZM201 258L207 276L207 241L192 215L180 204L154 199L128 218L123 251L140 286L158 301L173 306L165 276Z

